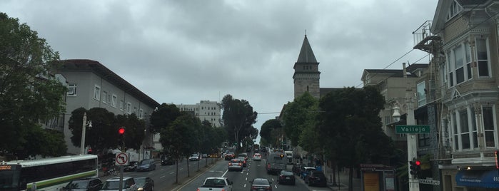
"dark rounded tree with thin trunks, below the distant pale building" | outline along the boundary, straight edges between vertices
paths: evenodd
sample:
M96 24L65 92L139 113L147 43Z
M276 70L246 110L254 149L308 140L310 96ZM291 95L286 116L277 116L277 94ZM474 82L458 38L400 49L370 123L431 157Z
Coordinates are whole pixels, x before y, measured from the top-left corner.
M196 116L188 113L178 116L176 120L163 128L160 133L159 142L163 148L168 150L171 158L176 160L176 182L178 183L178 161L181 158L188 158L198 150L199 136L198 130L201 128L201 121ZM187 176L190 176L187 162Z

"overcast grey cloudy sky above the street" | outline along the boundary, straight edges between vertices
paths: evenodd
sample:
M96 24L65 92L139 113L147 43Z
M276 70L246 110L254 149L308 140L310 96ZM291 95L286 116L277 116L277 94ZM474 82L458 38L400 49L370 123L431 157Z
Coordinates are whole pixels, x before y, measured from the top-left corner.
M0 12L61 59L99 61L158 103L248 100L258 130L293 101L305 35L321 88L362 87L365 69L428 63L413 31L435 0L2 0ZM413 51L411 51L413 50ZM259 138L257 139L257 141Z

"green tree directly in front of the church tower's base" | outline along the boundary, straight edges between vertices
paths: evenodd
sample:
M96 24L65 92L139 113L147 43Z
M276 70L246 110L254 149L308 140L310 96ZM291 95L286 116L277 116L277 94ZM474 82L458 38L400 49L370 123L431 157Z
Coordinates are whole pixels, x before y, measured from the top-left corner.
M313 98L313 96L305 92L303 95L295 98L293 102L286 104L283 113L283 123L284 132L287 138L291 140L292 146L298 145L298 140L303 131L306 123L311 119L310 113L316 113L316 107L314 105L318 104L318 100Z

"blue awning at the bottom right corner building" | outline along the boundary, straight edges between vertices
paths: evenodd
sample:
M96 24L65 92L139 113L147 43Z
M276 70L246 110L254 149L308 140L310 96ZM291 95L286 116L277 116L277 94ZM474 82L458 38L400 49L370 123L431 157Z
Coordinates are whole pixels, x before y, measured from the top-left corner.
M458 186L499 188L498 170L465 170L455 175Z

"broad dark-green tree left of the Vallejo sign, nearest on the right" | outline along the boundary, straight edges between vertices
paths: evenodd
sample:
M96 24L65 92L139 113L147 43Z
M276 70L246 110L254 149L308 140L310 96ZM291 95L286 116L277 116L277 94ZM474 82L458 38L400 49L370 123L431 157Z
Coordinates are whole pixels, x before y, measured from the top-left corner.
M321 98L318 130L333 160L350 169L350 188L353 167L362 162L383 163L392 155L393 141L383 133L378 116L384 103L374 86L343 88Z

